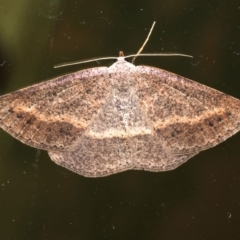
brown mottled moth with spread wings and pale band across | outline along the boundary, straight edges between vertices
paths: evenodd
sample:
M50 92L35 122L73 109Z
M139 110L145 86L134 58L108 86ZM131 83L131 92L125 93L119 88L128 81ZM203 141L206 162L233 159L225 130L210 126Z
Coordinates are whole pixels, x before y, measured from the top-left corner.
M240 100L124 56L0 97L0 127L73 172L174 169L240 130Z

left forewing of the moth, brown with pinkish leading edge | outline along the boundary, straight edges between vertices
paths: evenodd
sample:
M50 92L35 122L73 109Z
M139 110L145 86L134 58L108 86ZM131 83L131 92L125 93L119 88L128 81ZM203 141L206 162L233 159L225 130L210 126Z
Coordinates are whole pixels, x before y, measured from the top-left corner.
M108 79L106 67L86 69L3 95L0 127L30 146L68 151L104 103Z

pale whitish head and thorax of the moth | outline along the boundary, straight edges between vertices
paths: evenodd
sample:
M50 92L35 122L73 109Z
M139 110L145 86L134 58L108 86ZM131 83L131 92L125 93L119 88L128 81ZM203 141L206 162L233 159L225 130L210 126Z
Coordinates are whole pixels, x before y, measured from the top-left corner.
M125 61L124 57L117 58L117 62L108 68L111 82L116 91L128 91L134 85L136 67Z

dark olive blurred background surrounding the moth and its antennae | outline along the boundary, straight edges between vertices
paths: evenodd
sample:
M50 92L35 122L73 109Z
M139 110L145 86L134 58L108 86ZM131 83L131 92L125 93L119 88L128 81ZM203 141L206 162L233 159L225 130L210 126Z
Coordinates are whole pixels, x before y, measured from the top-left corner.
M139 57L240 99L239 0L1 0L0 94ZM239 239L240 134L169 172L85 178L0 130L0 239Z

